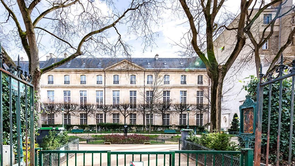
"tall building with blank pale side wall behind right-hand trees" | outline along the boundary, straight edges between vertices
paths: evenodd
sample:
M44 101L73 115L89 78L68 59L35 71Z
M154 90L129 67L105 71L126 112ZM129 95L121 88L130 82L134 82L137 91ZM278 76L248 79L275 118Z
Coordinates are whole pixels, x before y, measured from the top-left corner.
M286 13L280 19L277 19L272 36L263 44L260 48L259 53L261 57L261 63L263 66L263 73L266 73L268 66L272 62L274 56L278 52L280 46L283 46L288 36L295 26L294 19L294 11L291 10L288 12L292 5L292 0L284 0L284 4L281 9L281 13ZM267 36L271 32L271 28L267 27L270 24L271 20L275 18L276 12L278 10L278 5L274 4L271 7L265 9L259 16L259 18L253 24L251 32L253 33L254 38L257 42L262 38L262 33L265 30L265 36ZM249 9L250 12L251 9ZM253 10L253 15L258 12L258 9ZM237 17L239 18L239 16ZM236 27L238 20L233 20L229 28ZM214 40L215 46L215 54L217 55L217 59L219 64L224 64L225 59L229 57L229 54L232 52L234 45L236 43L237 32L235 30L224 30L217 38ZM236 60L236 63L233 64L232 68L227 74L227 78L225 79L224 89L231 89L230 93L226 94L227 99L222 102L223 108L226 108L222 111L221 118L221 127L227 128L230 126L230 122L232 121L232 117L234 113L239 113L239 106L245 100L245 95L247 92L243 89L243 85L247 84L250 75L256 76L256 68L253 54L253 45L250 39L246 40L245 47L241 51L239 57ZM291 44L286 48L283 52L284 60L291 62L295 59L295 45L294 45L294 37L291 41Z

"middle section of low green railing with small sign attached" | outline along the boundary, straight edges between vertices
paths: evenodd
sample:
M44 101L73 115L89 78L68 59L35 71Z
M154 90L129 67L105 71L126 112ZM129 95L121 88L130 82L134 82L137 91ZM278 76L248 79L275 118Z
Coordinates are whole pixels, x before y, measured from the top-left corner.
M148 166L150 166L150 155L155 155L156 157L156 166L158 166L158 155L164 155L163 165L166 164L166 155L169 155L169 166L174 166L175 164L175 152L174 151L161 151L161 152L108 152L108 165L111 166L111 155L116 155L116 165L119 163L119 155L124 155L124 166L126 166L126 155L132 154L132 161L134 161L134 155L139 155L140 162L142 162L142 155L148 155Z

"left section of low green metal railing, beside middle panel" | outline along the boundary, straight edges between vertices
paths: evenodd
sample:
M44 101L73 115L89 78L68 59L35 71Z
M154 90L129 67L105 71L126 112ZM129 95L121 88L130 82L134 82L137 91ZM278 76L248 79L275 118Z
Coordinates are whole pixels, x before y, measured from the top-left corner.
M73 153L75 154L75 166L77 166L77 154L83 154L83 166L85 166L85 154L91 154L91 163L92 166L94 165L94 154L99 154L100 160L100 166L101 166L101 154L107 153L109 151L107 150L41 150L39 151L39 166L43 166L43 155L42 154L49 154L49 165L52 166L52 154L58 154L58 166L60 165L60 155L66 156L66 166L69 165L69 154ZM37 165L35 165L37 166ZM47 166L47 165L46 165Z

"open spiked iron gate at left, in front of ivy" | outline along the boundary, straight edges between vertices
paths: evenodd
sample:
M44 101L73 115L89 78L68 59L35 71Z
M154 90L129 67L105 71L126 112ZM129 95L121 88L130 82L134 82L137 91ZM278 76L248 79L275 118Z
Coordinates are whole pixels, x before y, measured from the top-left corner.
M17 147L16 157L19 166L21 165L21 162L24 162L24 157L26 165L28 165L29 162L31 165L34 165L34 86L31 82L32 76L28 74L27 71L21 69L19 57L16 67L4 66L4 58L1 54L0 43L0 166L3 166L4 162L3 143L10 145L10 165L14 164L13 153L15 151L13 145ZM9 99L7 99L7 97ZM3 121L3 118L5 121ZM13 139L13 135L15 134L13 124L15 122L17 125L17 144L14 144ZM28 131L30 131L30 133L28 133ZM24 139L22 133L25 133ZM25 154L22 146L23 140L25 142ZM30 161L28 161L29 140Z

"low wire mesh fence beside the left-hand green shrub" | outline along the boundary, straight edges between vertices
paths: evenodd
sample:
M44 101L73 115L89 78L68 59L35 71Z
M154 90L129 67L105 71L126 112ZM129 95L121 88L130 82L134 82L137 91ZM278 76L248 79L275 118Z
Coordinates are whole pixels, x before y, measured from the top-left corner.
M79 139L73 139L69 143L67 143L67 144L63 145L62 147L59 147L58 149L55 149L55 150L79 150ZM70 158L74 155L75 155L75 153L69 153L68 158ZM58 158L59 158L59 160L58 160ZM51 158L50 158L50 154L44 154L43 155L43 166L58 166L58 165L62 164L63 162L65 162L66 160L67 160L67 156L64 153L61 153L61 154L53 153L53 154L51 154ZM51 161L51 165L49 164L50 161ZM58 164L58 161L59 161L59 164Z

